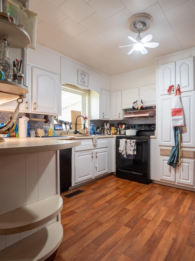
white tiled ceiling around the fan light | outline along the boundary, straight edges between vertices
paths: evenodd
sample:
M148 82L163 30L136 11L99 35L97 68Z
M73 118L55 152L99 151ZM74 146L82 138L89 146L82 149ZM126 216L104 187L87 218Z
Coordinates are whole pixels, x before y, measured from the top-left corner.
M108 76L156 64L154 58L195 46L195 0L30 0L37 16L37 43ZM133 14L148 13L156 48L134 51L127 37Z

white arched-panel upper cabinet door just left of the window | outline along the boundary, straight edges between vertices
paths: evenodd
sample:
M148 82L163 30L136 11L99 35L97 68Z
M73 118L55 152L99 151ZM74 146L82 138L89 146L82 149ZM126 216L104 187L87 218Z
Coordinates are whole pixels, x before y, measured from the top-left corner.
M55 115L59 113L60 75L32 67L32 112Z

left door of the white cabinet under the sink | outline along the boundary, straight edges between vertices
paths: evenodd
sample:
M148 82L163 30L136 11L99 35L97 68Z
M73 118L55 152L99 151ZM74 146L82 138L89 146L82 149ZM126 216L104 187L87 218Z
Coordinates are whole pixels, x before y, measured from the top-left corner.
M75 184L94 177L94 152L75 153Z

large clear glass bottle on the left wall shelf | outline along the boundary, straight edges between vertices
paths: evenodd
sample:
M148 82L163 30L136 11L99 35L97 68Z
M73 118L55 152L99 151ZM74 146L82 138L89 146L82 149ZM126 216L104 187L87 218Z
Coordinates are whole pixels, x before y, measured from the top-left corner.
M0 49L0 70L4 72L8 81L12 81L13 63L9 59L9 43L7 38L2 39Z

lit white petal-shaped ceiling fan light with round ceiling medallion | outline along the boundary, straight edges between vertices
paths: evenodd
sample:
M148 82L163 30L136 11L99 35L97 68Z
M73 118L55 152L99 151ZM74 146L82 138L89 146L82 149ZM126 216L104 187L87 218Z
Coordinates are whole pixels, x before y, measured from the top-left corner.
M159 45L158 42L149 42L152 39L152 35L146 35L143 39L140 36L140 32L149 29L152 22L153 22L153 18L151 17L151 15L147 13L135 14L132 17L130 17L129 20L127 21L127 26L131 31L136 31L138 35L136 39L134 39L131 36L128 36L128 38L133 42L135 42L135 44L119 46L119 47L133 46L133 48L127 54L133 53L134 50L139 50L142 54L146 54L147 49L145 47L149 47L149 48L157 47Z

